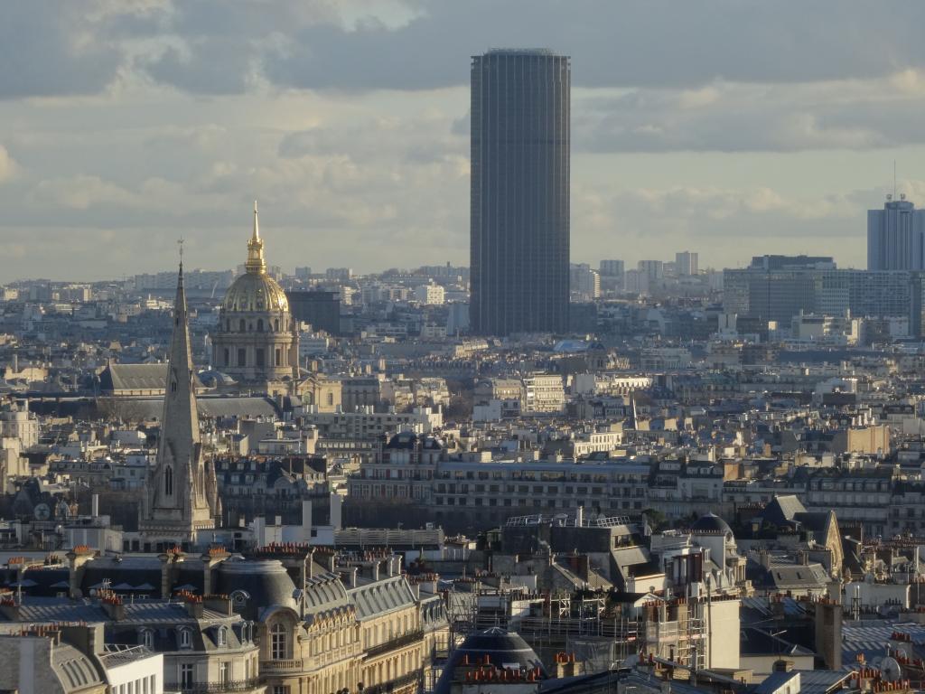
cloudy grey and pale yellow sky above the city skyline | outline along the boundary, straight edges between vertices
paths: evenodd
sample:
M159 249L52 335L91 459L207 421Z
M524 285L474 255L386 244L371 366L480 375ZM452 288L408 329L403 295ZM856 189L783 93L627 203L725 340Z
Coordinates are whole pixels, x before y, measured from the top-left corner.
M468 262L469 56L572 56L572 254L865 263L925 204L920 0L4 0L0 284Z

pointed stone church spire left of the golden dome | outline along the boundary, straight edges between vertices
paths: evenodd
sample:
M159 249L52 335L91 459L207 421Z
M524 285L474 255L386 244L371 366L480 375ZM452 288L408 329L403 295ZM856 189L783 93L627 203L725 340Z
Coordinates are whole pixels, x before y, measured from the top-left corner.
M139 530L165 544L194 544L197 531L216 525L216 474L211 462L203 462L182 260L173 323L157 460L148 473Z

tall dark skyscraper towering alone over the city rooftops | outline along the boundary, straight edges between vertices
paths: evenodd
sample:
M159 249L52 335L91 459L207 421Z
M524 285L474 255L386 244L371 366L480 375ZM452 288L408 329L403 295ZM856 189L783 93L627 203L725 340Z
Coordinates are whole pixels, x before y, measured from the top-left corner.
M563 332L569 316L571 65L549 50L472 60L472 329Z

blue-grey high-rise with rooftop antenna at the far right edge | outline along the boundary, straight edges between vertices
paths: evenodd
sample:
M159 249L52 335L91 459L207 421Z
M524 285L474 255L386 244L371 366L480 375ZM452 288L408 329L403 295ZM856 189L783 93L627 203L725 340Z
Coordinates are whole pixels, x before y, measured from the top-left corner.
M902 196L868 210L868 269L925 269L925 210Z

